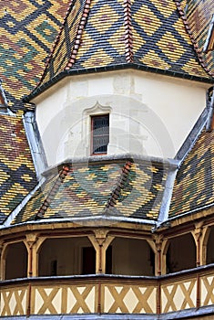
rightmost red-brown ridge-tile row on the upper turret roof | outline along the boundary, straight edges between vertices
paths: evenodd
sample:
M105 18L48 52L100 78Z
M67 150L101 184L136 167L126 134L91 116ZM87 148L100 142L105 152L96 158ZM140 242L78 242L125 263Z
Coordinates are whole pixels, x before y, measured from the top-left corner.
M213 74L207 68L207 63L206 63L206 60L204 59L202 52L200 52L200 50L199 50L199 45L196 42L195 38L193 37L192 32L190 31L189 22L188 22L187 16L185 15L183 8L181 7L180 1L175 0L175 4L177 6L178 13L183 21L184 27L189 35L189 38L190 38L191 43L193 45L193 48L197 54L197 57L199 59L199 63L201 65L201 67L209 74L209 76L213 77Z

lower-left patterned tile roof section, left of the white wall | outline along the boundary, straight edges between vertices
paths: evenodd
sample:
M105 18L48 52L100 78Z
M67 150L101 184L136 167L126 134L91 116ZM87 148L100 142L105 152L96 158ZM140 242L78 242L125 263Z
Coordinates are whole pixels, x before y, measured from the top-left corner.
M20 114L0 115L0 223L36 186Z

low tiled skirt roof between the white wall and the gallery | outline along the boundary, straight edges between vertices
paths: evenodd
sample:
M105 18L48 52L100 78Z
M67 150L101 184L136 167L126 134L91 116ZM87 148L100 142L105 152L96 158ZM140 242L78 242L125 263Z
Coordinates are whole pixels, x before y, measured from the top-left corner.
M156 220L167 176L168 166L153 162L65 165L48 176L13 224L100 215Z

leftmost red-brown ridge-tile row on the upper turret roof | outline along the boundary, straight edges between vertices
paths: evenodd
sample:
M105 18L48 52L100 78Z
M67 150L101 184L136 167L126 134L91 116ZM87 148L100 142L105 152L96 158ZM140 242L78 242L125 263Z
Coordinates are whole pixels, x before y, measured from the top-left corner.
M58 34L56 36L56 39L55 39L54 44L53 44L53 47L51 48L50 53L49 53L48 57L46 58L45 69L43 71L42 77L40 78L40 80L36 84L36 88L40 86L40 84L42 83L42 81L46 77L46 69L49 66L50 60L53 58L54 52L56 50L56 46L58 44L58 41L60 39L60 36L62 35L63 29L64 29L65 24L66 24L66 18L67 18L67 16L69 16L69 14L71 12L71 8L72 8L73 3L74 3L74 0L70 0L70 2L67 5L67 10L66 10L66 14L65 14L65 16L63 18L62 26L59 28L59 32L58 32ZM36 90L36 88L34 89L34 91Z

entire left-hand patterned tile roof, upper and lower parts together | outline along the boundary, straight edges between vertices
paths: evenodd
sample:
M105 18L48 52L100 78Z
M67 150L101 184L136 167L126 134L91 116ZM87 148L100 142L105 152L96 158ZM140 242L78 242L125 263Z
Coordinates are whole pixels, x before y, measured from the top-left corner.
M66 6L66 0L1 0L0 79L16 113L0 113L0 223L36 187L21 99L41 77Z

